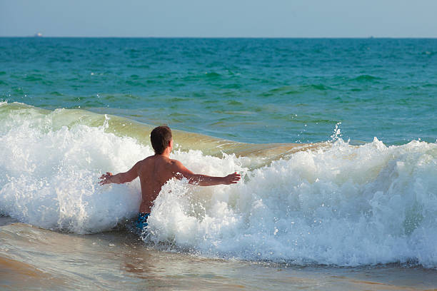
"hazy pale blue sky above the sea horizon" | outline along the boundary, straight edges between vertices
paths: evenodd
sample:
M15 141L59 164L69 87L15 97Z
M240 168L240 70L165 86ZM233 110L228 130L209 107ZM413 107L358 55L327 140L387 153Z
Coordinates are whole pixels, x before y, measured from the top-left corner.
M437 0L0 0L0 36L437 37Z

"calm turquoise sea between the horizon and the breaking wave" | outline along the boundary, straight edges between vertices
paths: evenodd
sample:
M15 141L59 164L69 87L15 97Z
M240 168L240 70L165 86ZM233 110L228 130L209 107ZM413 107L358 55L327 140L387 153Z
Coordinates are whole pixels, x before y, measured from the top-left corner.
M437 39L0 38L0 101L246 143L437 137Z

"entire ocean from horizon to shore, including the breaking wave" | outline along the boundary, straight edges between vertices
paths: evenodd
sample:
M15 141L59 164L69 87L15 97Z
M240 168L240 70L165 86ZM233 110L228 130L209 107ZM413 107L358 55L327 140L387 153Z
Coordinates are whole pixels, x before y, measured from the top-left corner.
M0 38L0 287L437 288L437 39ZM139 235L153 154L170 180Z

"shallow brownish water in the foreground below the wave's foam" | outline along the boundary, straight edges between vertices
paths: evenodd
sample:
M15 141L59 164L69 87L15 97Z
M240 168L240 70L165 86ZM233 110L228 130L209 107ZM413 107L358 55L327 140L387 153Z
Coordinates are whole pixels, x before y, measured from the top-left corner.
M0 285L56 290L429 290L437 271L408 265L296 266L217 260L147 247L126 231L71 235L1 218Z

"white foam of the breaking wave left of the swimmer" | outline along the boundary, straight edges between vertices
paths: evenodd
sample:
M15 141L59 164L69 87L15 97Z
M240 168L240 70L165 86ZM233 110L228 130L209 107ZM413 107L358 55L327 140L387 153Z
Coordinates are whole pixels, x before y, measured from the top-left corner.
M54 114L27 110L0 129L0 212L21 222L75 233L109 230L138 210L139 183L98 185L104 171L128 170L151 153L104 127L61 126Z

